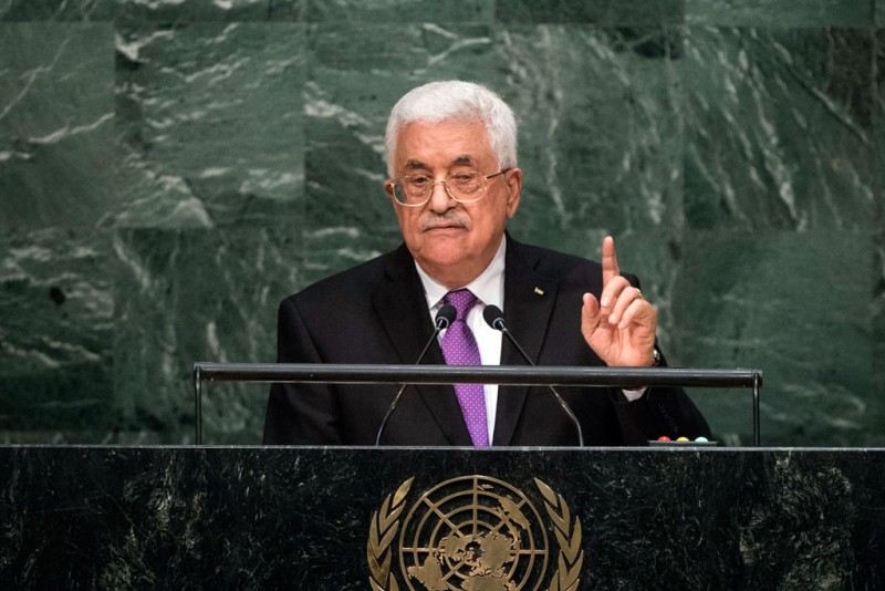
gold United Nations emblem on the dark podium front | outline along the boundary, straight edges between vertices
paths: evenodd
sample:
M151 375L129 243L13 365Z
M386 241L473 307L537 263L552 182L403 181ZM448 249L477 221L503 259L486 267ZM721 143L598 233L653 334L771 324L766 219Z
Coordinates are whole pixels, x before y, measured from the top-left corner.
M373 590L399 591L392 570L413 591L537 591L545 582L550 591L577 589L581 521L572 520L563 498L543 481L535 478L534 485L559 546L553 568L544 519L514 486L464 476L407 507L414 480L403 483L372 516L366 553Z

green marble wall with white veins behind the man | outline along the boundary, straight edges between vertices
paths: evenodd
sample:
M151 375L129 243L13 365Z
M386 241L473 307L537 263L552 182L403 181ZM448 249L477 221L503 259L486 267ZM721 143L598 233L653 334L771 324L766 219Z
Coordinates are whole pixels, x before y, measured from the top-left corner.
M885 0L0 0L0 440L192 440L194 361L397 243L384 122L448 77L518 113L514 235L614 234L673 364L764 371L764 444L885 444Z

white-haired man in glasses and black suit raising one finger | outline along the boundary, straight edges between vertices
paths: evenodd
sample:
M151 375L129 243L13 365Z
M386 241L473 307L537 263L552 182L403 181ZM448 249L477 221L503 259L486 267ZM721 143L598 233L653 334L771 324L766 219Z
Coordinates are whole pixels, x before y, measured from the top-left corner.
M483 311L507 318L538 365L653 366L657 312L623 276L612 238L602 263L523 245L507 231L522 193L517 125L485 86L434 82L394 106L384 188L403 232L396 250L280 304L280 363L525 363ZM442 310L442 314L440 314ZM500 312L499 312L500 311ZM446 326L434 339L435 319ZM494 314L493 314L494 315ZM396 386L273 384L264 443L372 445ZM680 388L408 386L382 443L404 446L641 445L709 436Z

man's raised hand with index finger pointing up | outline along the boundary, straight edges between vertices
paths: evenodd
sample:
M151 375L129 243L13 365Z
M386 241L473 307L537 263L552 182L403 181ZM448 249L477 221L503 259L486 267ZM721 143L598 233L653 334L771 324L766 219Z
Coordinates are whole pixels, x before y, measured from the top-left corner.
M584 293L581 309L584 340L608 366L653 365L657 310L621 276L611 236L602 242L602 284L600 300Z

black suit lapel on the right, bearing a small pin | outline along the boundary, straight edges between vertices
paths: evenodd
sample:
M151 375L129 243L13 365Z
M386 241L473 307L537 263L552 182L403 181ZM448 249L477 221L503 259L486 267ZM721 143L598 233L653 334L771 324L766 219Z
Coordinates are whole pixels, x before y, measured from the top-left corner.
M540 274L539 259L507 236L504 265L504 318L517 342L538 363L556 300L558 284ZM501 365L528 365L507 336L501 344ZM510 445L519 423L528 386L501 386L494 421L494 445Z

